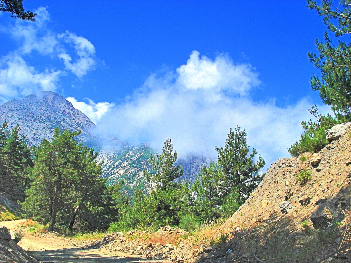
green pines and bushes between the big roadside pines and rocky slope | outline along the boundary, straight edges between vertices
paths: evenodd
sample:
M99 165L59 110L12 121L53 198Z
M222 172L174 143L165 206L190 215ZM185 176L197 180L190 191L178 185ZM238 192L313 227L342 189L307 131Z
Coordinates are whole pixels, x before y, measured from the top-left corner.
M218 148L217 162L201 169L193 186L188 182L177 182L183 175L180 165L174 165L177 152L167 139L162 153L150 163L154 173L144 170L144 176L153 188L148 194L135 189L132 200L126 196L119 207L119 220L110 226L110 231L134 228L158 228L161 225L179 225L188 231L198 228L201 221L231 216L245 202L262 180L258 171L265 164L261 156L253 159L246 132L238 126L230 129L225 147Z

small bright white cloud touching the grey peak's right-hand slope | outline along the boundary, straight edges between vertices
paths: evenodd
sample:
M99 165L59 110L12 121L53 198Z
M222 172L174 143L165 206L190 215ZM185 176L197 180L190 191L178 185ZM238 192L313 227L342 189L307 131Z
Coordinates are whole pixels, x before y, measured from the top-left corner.
M74 97L67 97L66 100L72 103L73 107L79 109L82 113L88 116L88 118L97 124L102 116L104 116L112 107L114 103L109 102L98 102L94 103L91 99L85 98L88 103L83 101L77 101Z

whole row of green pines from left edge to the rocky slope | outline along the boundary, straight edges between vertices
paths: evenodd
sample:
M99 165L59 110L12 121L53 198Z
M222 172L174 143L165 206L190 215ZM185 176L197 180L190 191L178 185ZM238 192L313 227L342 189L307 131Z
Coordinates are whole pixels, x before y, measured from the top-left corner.
M161 154L150 155L150 171L143 176L151 184L129 197L121 191L124 181L107 185L101 178L98 153L74 138L80 132L54 129L52 141L43 139L29 150L19 127L0 129L1 189L22 202L27 217L80 231L159 228L179 225L194 231L201 221L230 216L245 202L262 180L258 171L265 164L247 145L246 132L230 129L225 146L218 148L217 162L203 167L193 186L177 180L183 168L170 139ZM114 222L114 223L112 223ZM112 223L112 224L111 224Z

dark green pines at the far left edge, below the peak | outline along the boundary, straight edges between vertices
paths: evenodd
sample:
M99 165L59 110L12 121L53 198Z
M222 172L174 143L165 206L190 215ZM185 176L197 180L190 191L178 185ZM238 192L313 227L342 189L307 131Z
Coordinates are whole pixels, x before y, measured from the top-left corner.
M24 201L24 191L29 185L28 167L32 166L31 153L25 138L20 137L17 125L12 130L7 123L0 126L0 191L14 201Z

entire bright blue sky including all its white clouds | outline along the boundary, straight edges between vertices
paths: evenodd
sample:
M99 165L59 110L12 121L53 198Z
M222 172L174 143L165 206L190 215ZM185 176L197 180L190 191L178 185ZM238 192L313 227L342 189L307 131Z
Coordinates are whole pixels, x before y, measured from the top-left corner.
M183 154L223 145L239 124L269 161L321 104L307 53L326 27L303 0L24 6L37 21L0 16L1 102L52 90L101 130L156 148L171 137Z

